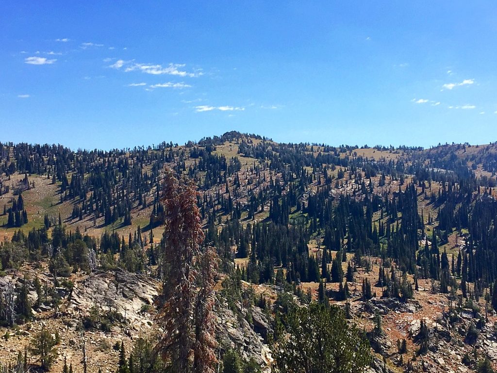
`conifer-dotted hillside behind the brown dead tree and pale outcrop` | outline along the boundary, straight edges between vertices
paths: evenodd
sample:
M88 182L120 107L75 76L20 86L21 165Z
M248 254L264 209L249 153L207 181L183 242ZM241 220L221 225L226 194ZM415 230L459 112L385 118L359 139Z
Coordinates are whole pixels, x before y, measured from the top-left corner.
M291 364L295 348L287 333L308 338L296 336L306 317L324 328L353 320L346 337L356 335L361 349L367 340L376 370L495 366L496 144L331 147L238 132L134 149L0 144L0 270L18 281L0 278L0 323L57 315L64 296L51 286L69 294L69 279L83 273L122 269L166 283L166 167L199 192L201 246L221 259L218 303L259 328L272 349L272 358L254 360L237 343L223 346L225 372L297 372L281 362ZM42 268L46 283L23 276L26 266ZM98 321L86 315L86 329L101 328L103 318L109 330L123 322L102 309ZM117 350L128 359L124 345ZM119 359L119 372L134 358ZM239 371L227 368L237 364Z

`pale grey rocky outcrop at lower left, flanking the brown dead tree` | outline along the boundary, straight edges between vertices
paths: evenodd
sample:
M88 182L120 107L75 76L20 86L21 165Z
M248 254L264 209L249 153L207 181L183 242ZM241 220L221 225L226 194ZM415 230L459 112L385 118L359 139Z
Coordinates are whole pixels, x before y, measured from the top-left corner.
M24 266L20 271L9 271L0 277L0 289L7 284L21 286L24 275L30 284L29 298L32 304L37 299L32 280L38 278L48 288L53 287L53 277L46 267ZM67 286L62 278L56 289L60 304L42 303L33 308L34 319L14 328L1 328L0 362L13 361L17 354L24 353L33 336L45 328L60 343L51 372L61 372L64 358L73 364L74 372L83 372L83 349L86 353L88 372L114 372L119 352L113 348L124 342L130 351L132 343L143 337L157 339L161 328L156 324L155 300L159 295L159 281L145 275L132 274L124 270L94 271L78 273L69 279ZM64 283L66 286L63 286ZM0 292L1 293L1 292ZM258 307L252 309L253 322L238 318L233 311L222 307L218 312L218 338L223 348L231 347L241 352L244 359L253 359L261 367L267 367L272 359L264 337L270 330L267 315ZM30 357L33 367L39 364L37 357Z

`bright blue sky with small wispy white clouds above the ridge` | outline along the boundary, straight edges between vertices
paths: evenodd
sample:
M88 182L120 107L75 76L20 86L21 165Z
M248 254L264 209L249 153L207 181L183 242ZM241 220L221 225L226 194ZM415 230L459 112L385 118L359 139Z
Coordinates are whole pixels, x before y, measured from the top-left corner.
M0 141L497 141L495 1L0 3Z

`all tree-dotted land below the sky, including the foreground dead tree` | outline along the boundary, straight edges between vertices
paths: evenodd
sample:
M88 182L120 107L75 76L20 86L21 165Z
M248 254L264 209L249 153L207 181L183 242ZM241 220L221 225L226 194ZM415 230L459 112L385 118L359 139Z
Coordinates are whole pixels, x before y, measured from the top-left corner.
M0 372L417 372L449 359L491 372L496 172L496 144L0 144L0 326L30 340L0 354ZM148 303L121 290L144 302L136 312L95 302L69 322L85 282L109 274L159 290ZM133 312L150 330L131 331ZM46 318L69 322L81 364L62 359L62 331L29 331ZM95 333L120 336L112 366L91 361Z

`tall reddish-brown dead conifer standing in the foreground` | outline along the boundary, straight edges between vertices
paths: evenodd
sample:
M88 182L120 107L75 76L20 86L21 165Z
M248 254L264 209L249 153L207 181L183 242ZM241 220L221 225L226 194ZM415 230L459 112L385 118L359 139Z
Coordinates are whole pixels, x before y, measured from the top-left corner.
M163 336L157 345L172 372L211 373L214 349L214 278L218 257L202 249L204 239L196 186L166 170L162 202L165 209L163 252Z

